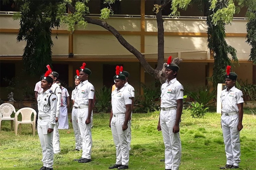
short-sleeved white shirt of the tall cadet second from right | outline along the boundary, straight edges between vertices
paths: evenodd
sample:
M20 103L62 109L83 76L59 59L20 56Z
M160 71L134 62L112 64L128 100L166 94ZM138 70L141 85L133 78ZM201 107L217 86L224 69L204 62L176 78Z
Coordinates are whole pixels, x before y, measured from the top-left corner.
M177 100L183 99L184 88L176 78L166 80L161 86L161 107L177 107Z

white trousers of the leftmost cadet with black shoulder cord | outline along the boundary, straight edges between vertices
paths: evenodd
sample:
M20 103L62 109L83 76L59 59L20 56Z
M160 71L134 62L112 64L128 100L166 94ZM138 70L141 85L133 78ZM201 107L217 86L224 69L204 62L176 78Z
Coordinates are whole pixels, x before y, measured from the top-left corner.
M37 132L43 151L43 166L53 168L53 132L47 133L50 117L43 120L38 119Z

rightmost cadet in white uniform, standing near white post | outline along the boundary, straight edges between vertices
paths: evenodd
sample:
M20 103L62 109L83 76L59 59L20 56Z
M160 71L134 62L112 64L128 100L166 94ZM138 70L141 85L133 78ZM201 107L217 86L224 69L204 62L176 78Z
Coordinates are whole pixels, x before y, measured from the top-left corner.
M227 88L221 92L222 116L221 125L225 144L227 163L220 169L239 168L240 138L239 132L243 129L243 93L235 87L237 74L230 72L230 66L227 66L225 75L225 84Z

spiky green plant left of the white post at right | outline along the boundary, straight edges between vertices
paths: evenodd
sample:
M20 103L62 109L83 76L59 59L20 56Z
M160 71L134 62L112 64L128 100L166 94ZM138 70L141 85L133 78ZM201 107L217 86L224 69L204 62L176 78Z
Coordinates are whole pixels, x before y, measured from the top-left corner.
M202 103L203 106L212 104L209 102L216 97L215 91L210 91L208 88L199 88L197 91L188 92L188 96L198 103Z

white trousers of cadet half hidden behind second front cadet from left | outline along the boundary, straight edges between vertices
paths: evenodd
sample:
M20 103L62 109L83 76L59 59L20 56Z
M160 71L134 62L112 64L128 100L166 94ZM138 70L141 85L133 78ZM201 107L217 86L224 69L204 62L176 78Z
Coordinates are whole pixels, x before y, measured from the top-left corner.
M75 134L75 149L80 150L82 149L82 137L81 137L78 122L76 122L77 112L78 112L78 108L72 109L72 125L73 125L74 134Z

